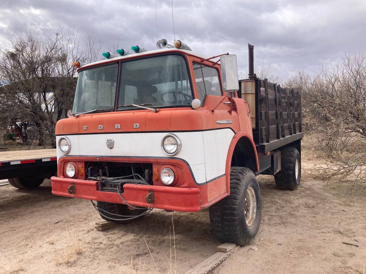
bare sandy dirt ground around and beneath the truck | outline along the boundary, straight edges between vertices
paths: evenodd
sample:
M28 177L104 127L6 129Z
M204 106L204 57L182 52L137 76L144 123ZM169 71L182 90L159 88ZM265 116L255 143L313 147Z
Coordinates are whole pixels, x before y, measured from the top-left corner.
M302 162L311 164L304 153ZM278 190L273 176L258 181L258 235L211 273L366 273L365 193L313 179L295 191ZM31 191L0 186L0 273L185 273L220 244L208 210L153 210L97 231L101 220L90 201L52 195L49 181Z

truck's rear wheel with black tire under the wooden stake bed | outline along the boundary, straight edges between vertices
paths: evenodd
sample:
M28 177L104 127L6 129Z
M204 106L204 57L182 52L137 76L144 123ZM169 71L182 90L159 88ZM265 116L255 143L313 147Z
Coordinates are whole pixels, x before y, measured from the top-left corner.
M300 184L301 158L296 148L287 147L281 150L281 171L275 175L279 189L294 190Z

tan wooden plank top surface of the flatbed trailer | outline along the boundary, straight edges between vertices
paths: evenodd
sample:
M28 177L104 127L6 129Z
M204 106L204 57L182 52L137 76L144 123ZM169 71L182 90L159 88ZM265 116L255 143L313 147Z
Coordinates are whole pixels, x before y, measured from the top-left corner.
M56 157L55 148L0 152L0 162L41 159L41 158L51 158L51 157Z

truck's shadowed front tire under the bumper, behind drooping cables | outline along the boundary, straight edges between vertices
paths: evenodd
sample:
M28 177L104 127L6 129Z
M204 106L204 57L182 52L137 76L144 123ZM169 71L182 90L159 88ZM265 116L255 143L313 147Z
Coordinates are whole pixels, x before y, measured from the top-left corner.
M146 211L146 209L133 209L132 210L132 209L129 209L126 205L123 205L122 203L108 203L108 202L97 201L97 206L98 206L98 209L105 210L109 213L124 215L124 216L131 216L131 217L133 217L135 215L139 215ZM102 210L100 210L100 212L99 212L100 217L102 217L106 221L115 222L116 224L128 224L130 222L133 222L133 221L138 220L143 217L143 216L140 216L140 217L130 219L130 220L113 220L113 219L122 219L122 218L128 218L128 217L115 216L113 214L108 214L107 212L104 212ZM107 217L103 216L102 214Z

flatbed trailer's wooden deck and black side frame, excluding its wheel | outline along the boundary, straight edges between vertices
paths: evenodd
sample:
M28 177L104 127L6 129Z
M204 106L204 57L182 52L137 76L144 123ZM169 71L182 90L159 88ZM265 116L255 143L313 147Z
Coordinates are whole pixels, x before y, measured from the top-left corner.
M0 180L19 176L54 174L56 149L0 152Z

